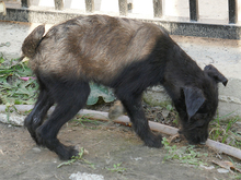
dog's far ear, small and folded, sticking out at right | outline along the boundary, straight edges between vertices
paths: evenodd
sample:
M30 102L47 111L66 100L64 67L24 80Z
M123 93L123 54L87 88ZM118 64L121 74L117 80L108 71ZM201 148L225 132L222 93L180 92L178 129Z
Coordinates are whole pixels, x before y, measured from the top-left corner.
M204 72L206 72L217 83L221 82L225 86L227 85L228 80L214 65L206 65L204 68Z

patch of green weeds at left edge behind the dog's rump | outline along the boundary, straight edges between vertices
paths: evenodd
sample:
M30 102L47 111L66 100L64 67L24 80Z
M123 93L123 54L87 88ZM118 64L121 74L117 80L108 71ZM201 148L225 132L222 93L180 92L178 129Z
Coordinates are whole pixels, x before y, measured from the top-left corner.
M38 85L32 77L27 62L11 60L7 64L2 57L0 62L0 104L34 104ZM21 80L22 77L27 77L28 81Z

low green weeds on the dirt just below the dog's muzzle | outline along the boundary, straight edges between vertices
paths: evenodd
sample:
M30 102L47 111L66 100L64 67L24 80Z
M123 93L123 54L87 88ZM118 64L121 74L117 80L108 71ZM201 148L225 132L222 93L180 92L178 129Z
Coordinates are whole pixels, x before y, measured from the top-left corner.
M194 147L194 145L183 146L177 148L176 145L170 145L168 140L163 137L162 144L164 145L164 149L168 151L163 163L168 159L177 159L182 164L190 164L190 165L205 165L202 157L208 156L206 153L199 153Z

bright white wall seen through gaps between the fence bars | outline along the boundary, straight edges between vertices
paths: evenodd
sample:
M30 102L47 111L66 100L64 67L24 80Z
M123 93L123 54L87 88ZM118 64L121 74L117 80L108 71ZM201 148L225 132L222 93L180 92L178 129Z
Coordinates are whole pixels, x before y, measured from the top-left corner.
M85 10L85 0L65 0L66 9ZM133 3L128 11L130 17L153 17L152 0L127 0ZM95 13L110 13L118 15L118 0L95 0ZM51 7L54 0L31 0L32 5ZM188 0L162 0L163 19L168 21L188 21ZM199 0L199 22L204 23L228 23L228 0ZM241 22L241 0L238 0L238 20Z

